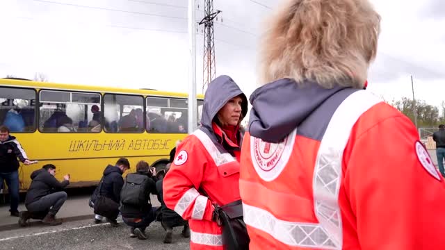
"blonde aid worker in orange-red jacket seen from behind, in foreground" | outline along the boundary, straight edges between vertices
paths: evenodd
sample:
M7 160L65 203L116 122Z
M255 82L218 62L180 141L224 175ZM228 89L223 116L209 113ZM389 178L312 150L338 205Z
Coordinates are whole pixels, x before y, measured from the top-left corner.
M445 184L410 119L363 90L369 1L291 0L268 22L241 151L250 249L445 249Z

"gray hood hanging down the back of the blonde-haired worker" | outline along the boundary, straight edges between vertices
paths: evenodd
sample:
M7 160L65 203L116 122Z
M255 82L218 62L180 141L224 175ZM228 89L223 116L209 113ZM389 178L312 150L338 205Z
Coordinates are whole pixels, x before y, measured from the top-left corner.
M326 99L343 89L325 89L309 81L298 85L289 78L268 83L250 96L249 133L266 142L280 142Z

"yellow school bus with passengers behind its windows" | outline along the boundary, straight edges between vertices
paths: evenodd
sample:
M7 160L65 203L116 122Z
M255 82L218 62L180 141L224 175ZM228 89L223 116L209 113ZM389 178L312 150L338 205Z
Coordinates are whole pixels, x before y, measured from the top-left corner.
M106 165L145 160L160 175L177 140L187 135L187 94L158 90L0 79L0 125L22 144L34 165L20 165L20 190L35 169L56 165L70 188L97 185ZM197 96L198 121L203 96Z

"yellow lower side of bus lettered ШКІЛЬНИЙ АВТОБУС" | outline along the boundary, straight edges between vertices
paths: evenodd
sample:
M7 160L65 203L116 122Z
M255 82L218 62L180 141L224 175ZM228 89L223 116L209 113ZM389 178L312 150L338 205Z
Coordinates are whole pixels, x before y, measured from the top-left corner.
M186 134L156 133L30 133L17 134L29 159L35 165L19 168L20 190L31 185L31 173L45 164L56 165L56 178L61 181L70 174L70 188L96 185L106 165L125 157L131 170L145 160L150 165L161 158L168 159L175 142Z

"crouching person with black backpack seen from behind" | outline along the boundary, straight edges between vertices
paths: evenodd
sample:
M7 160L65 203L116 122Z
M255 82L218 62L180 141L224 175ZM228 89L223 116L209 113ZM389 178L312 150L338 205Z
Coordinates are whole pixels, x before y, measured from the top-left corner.
M131 226L130 237L147 240L145 228L156 219L158 207L152 207L150 194L156 192L156 170L149 169L148 163L141 160L136 165L136 173L127 174L122 188L120 213L122 220Z

